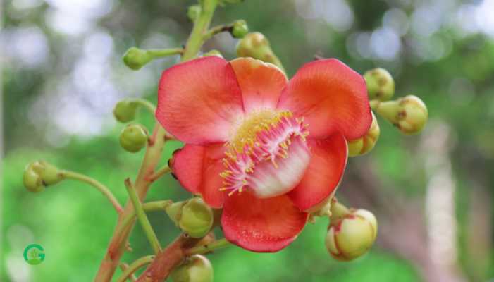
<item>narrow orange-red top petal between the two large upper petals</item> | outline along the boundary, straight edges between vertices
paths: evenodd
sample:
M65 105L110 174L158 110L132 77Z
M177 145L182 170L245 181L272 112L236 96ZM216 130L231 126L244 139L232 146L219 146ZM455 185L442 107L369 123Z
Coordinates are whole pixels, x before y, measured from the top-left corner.
M288 82L280 68L252 58L237 58L230 64L242 90L246 113L254 109L276 109L281 90Z

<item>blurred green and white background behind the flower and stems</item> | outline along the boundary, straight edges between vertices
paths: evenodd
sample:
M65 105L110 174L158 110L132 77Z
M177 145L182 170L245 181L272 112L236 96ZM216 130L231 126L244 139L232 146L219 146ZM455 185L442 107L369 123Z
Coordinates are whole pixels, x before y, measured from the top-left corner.
M4 156L0 281L92 281L116 214L99 192L65 181L40 194L21 183L29 161L46 159L109 185L125 200L143 152L118 145L111 115L123 97L156 100L161 59L126 68L128 47L178 47L192 1L7 0L1 4ZM378 216L378 242L354 262L326 252L326 219L309 224L276 254L237 247L210 255L215 281L490 281L494 277L494 1L246 0L219 8L214 24L247 20L263 32L289 75L315 54L360 73L381 66L396 96L428 105L421 135L405 137L382 119L371 154L350 159L340 201ZM204 47L235 57L228 34ZM152 126L153 118L138 120ZM180 143L166 145L164 164ZM173 178L155 183L148 200L189 197ZM150 214L164 245L178 231ZM140 226L123 261L152 252ZM23 249L38 243L42 264Z

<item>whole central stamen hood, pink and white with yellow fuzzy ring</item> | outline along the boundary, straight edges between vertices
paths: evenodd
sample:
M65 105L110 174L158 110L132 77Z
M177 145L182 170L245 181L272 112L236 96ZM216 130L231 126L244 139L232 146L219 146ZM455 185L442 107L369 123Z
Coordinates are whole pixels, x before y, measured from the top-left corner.
M259 198L276 197L295 188L310 161L303 118L288 111L260 111L237 127L223 164L228 195L248 189Z

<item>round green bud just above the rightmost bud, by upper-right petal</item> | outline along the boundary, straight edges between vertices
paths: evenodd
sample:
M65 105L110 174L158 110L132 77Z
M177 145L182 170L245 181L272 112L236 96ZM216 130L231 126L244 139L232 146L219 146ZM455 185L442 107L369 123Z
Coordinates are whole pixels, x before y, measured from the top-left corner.
M384 68L374 68L364 73L369 99L388 101L395 94L395 80Z

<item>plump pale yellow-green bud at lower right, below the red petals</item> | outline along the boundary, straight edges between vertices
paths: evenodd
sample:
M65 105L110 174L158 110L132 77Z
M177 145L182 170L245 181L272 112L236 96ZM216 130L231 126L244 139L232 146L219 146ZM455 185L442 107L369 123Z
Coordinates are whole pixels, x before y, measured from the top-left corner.
M341 219L331 222L326 248L335 259L350 261L364 255L372 247L376 235L376 217L365 209L351 209Z

